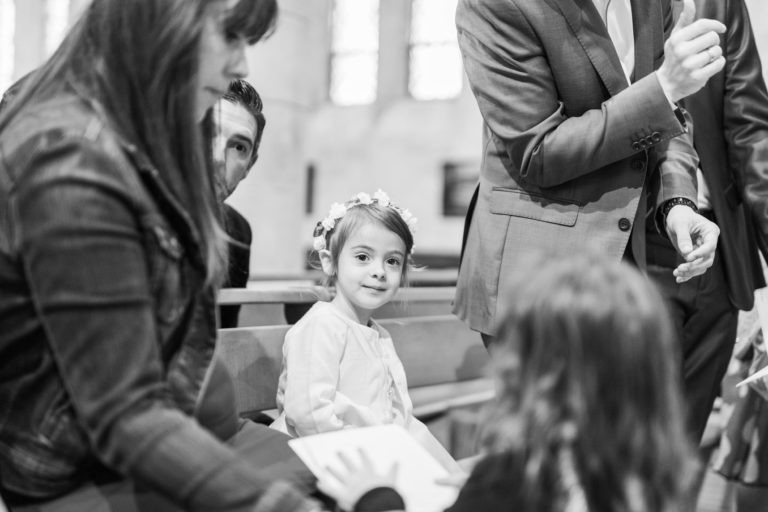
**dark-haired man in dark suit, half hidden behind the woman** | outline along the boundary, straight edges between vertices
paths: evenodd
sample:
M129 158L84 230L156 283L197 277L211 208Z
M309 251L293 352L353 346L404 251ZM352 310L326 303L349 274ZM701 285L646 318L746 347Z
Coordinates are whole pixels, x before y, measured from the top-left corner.
M227 93L213 109L217 192L222 201L224 229L230 238L229 267L224 282L227 288L245 288L248 283L252 233L248 220L223 201L248 176L259 157L259 144L266 125L262 107L256 89L240 79L230 83ZM239 313L239 305L220 306L220 327L237 327Z

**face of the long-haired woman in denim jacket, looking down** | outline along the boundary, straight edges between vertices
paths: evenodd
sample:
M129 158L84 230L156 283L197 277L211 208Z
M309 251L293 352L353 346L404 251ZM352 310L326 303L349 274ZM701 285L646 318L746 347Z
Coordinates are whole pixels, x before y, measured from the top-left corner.
M216 0L206 7L197 76L198 120L227 92L229 82L248 74L245 37L224 32L227 14L238 1Z

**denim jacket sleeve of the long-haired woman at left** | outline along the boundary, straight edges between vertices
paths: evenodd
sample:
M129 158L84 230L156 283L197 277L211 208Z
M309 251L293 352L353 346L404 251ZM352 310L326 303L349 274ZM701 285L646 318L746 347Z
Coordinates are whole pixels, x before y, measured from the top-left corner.
M304 510L298 492L275 487L170 398L141 231L131 197L109 178L134 171L86 141L31 167L10 201L14 246L95 455L190 510L250 509L267 497Z

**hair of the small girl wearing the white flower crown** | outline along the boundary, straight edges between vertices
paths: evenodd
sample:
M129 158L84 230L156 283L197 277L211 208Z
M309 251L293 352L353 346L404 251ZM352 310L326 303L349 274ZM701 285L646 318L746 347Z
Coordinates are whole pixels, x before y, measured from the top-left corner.
M405 245L405 261L403 261L403 272L401 284L405 284L408 278L408 267L411 266L411 254L413 252L413 234L408 223L403 219L402 213L393 206L382 206L377 202L370 204L355 204L348 207L343 217L336 221L331 231L323 232L321 236L325 238L325 248L331 253L331 262L333 263L333 275L326 276L326 286L331 286L336 282L336 269L339 268L339 255L344 248L347 240L360 227L366 224L378 224L383 228L396 234ZM318 226L321 224L318 223ZM313 250L310 254L310 263L315 268L320 268L318 251Z

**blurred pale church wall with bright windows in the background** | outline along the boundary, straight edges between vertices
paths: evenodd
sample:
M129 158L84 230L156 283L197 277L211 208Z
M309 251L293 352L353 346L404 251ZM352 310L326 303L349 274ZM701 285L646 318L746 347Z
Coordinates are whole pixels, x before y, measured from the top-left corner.
M50 55L88 0L0 0L0 90ZM747 0L768 76L768 2ZM254 233L251 278L306 273L332 202L385 190L419 218L417 262L455 270L480 165L456 0L279 0L249 49L264 99L259 161L229 198Z

